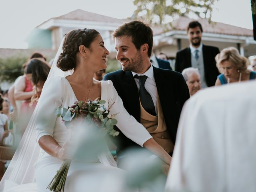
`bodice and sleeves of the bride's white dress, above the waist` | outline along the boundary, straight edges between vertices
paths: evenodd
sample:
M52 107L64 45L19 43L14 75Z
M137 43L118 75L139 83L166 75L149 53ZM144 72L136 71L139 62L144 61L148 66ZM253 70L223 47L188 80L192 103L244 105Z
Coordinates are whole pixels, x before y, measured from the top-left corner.
M44 89L41 102L38 103L37 142L44 135L53 136L62 144L70 138L71 130L66 128L61 117L54 115L58 106L68 108L78 101L68 80L64 77L52 77L53 82ZM123 106L122 99L118 96L111 81L101 81L101 99L105 100L106 108L111 106L110 114L116 114L118 121L116 126L131 140L143 146L144 142L152 136L139 124L133 116L130 116ZM39 119L40 118L40 119Z

